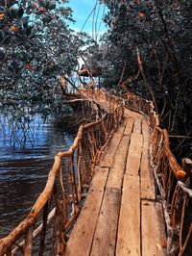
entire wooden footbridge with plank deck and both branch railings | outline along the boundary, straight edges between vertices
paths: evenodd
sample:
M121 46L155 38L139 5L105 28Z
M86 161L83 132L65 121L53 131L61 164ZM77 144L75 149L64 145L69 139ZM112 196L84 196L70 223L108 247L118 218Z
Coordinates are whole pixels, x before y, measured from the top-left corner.
M192 255L190 170L177 163L152 102L79 93L97 118L55 157L0 255Z

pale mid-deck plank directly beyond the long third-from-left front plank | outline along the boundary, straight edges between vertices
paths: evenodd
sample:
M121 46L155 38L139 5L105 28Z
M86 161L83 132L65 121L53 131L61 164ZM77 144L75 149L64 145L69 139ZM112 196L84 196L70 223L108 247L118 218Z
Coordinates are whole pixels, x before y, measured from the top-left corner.
M131 144L126 165L126 173L138 175L140 170L140 158L142 152L143 138L141 134L132 134Z

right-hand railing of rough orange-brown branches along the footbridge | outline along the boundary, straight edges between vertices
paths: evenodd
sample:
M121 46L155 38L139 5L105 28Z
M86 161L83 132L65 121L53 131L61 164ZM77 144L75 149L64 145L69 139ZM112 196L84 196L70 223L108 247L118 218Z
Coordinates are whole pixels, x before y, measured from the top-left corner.
M172 153L169 134L166 129L161 129L153 103L134 94L127 94L125 106L149 116L152 130L151 164L166 221L167 253L183 255L191 246L192 236L192 216L189 209L191 190L187 188L190 184L189 174L181 168Z

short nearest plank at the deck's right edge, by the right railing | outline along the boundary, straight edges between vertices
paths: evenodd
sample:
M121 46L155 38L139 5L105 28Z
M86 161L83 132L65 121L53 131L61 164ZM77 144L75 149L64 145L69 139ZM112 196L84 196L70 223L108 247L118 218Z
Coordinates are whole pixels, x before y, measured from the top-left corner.
M142 255L166 255L162 246L166 236L161 204L142 200L141 211Z

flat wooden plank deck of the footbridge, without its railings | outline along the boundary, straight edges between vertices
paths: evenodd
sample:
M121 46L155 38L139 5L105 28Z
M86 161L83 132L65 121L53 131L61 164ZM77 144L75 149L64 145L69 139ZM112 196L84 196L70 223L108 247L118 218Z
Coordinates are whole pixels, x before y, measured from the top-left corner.
M143 115L125 111L91 181L65 256L166 255L164 219Z

